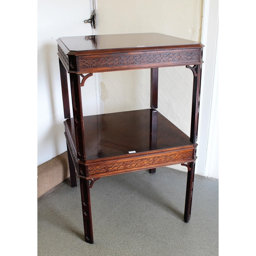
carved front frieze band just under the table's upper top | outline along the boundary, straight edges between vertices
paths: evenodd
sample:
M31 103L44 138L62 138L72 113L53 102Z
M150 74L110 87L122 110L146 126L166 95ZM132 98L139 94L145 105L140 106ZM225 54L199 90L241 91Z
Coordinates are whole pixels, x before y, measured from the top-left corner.
M82 69L103 68L115 66L147 65L166 62L200 61L200 51L165 52L131 55L110 55L104 57L80 58L79 67Z

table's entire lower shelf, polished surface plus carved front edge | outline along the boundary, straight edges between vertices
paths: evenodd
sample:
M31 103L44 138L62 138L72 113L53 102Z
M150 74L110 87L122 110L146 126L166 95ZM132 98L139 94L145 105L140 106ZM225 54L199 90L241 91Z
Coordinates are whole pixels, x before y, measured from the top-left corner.
M151 109L83 117L86 173L97 178L195 161L197 144L172 122ZM65 122L66 138L76 158L73 118Z

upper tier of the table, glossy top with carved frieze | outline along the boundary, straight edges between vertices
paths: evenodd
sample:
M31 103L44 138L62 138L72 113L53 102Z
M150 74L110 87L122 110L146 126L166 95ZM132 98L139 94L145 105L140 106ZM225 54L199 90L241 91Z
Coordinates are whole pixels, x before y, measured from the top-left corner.
M203 45L158 33L61 37L58 56L69 73L202 63Z

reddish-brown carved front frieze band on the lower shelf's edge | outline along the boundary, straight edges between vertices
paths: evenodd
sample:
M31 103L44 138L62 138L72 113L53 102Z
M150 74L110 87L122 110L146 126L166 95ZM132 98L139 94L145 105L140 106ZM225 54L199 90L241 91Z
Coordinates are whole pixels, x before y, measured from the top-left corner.
M180 153L171 153L161 156L145 157L142 159L124 160L121 162L110 162L107 164L89 165L89 175L115 172L117 170L147 168L152 165L171 163L182 160L193 160L193 151L183 151Z

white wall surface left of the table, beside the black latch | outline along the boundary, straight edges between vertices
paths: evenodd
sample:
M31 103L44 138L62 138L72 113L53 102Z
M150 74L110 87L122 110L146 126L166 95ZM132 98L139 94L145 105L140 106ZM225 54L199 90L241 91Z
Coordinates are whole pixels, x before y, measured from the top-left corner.
M90 0L38 0L38 81L37 81L37 164L65 152L63 108L59 77L56 39L62 36L92 34L84 19L91 16ZM87 80L90 87L82 88L89 95L84 101L85 115L96 114L94 78ZM90 90L89 90L90 89ZM72 111L71 111L72 112Z

